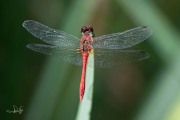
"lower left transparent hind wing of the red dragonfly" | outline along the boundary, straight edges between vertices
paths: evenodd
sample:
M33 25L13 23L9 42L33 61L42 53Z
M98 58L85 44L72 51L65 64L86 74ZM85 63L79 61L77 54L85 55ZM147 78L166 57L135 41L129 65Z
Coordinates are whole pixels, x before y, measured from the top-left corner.
M27 48L42 54L52 55L75 65L82 65L82 55L73 49L43 44L28 44Z

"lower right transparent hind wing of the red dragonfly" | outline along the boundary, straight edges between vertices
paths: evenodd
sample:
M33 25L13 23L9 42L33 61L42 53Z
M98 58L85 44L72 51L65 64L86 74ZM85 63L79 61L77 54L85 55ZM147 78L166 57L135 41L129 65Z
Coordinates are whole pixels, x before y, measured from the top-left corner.
M94 64L97 68L108 68L123 63L135 62L149 57L149 54L141 50L101 50L94 51ZM89 60L89 66L92 61Z

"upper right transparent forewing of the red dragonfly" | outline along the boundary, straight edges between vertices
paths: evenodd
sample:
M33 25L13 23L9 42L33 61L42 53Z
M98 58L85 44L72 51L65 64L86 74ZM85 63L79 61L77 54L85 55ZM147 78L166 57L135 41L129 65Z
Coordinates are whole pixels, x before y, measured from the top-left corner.
M147 39L152 34L148 26L140 26L124 32L102 35L94 38L93 48L125 49Z

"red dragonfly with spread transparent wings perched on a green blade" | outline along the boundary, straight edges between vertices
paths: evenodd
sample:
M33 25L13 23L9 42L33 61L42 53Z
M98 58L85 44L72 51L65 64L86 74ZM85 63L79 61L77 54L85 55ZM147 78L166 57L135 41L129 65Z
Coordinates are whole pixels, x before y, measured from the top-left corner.
M147 39L152 34L152 30L148 26L95 37L93 28L87 25L81 28L82 37L78 38L33 20L26 20L22 25L33 36L46 43L27 44L27 48L42 54L56 56L78 66L82 65L79 87L80 101L83 100L85 93L87 65L108 68L149 57L149 54L142 50L124 50ZM94 55L93 62L88 60L91 54Z

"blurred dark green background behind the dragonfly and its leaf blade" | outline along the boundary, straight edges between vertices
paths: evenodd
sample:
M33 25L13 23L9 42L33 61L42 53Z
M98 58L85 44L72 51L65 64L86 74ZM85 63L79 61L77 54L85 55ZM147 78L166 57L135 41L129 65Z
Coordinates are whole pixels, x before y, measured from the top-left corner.
M23 27L32 19L81 37L147 25L153 35L132 49L151 57L110 69L95 69L91 120L180 120L179 0L2 0L2 120L74 120L81 68L27 49L41 43ZM22 114L8 113L13 105Z

